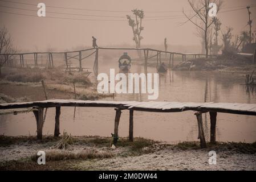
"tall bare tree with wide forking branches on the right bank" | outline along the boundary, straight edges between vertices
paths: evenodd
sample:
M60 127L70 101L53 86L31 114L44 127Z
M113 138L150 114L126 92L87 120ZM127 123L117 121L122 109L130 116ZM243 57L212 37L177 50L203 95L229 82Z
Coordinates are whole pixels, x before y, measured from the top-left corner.
M211 3L215 3L217 5L216 14L221 9L222 0L188 0L190 7L192 7L192 10L194 11L195 15L191 16L189 18L188 15L186 15L183 11L183 14L188 18L190 22L192 22L196 27L200 28L202 32L204 32L204 39L205 39L205 54L206 57L209 55L209 49L208 49L208 29L213 24L214 20L216 19L216 16L209 17L209 13L212 10ZM202 26L196 22L196 20L193 20L193 18L196 18L200 20Z

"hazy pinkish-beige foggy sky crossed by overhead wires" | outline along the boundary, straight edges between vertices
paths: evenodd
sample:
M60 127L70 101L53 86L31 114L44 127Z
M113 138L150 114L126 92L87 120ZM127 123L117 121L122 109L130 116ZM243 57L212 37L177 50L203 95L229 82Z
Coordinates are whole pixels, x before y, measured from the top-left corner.
M25 2L31 4L44 2L46 4L46 17L56 16L79 19L121 20L121 22L102 22L92 20L39 18L0 13L0 26L5 26L9 30L13 38L14 45L22 51L46 51L49 48L58 51L65 51L66 49L75 49L79 46L91 46L91 36L95 36L97 38L97 44L99 46L114 46L116 44L135 45L135 43L132 41L132 30L131 27L128 26L128 20L126 18L62 15L47 13L47 11L103 16L125 16L127 14L132 15L132 13L56 9L47 7L47 5L113 11L131 11L135 8L143 9L144 11L179 11L173 13L145 12L145 20L143 21L143 26L145 29L141 33L144 39L141 43L144 45L163 44L164 38L166 37L168 44L171 45L200 45L200 38L195 35L196 27L192 23L187 22L183 26L178 26L178 23L186 21L185 16L184 18L178 19L147 20L161 19L148 18L148 16L182 16L182 8L185 11L191 10L188 5L188 1L186 0L22 0L17 2ZM246 5L251 4L256 4L256 1L224 0L224 9L222 11L232 10L227 9L228 7L246 7ZM36 6L18 5L15 3L0 1L0 6L1 5L18 7L22 9L38 10ZM250 10L251 19L253 19L253 31L255 31L256 7L252 7ZM36 11L9 9L6 7L0 7L0 11L36 15ZM189 12L187 13L189 14ZM218 14L218 18L220 18L222 22L222 31L225 31L225 27L230 26L234 28L234 34L238 34L242 30L248 30L249 28L249 26L246 26L248 21L247 9L220 13Z

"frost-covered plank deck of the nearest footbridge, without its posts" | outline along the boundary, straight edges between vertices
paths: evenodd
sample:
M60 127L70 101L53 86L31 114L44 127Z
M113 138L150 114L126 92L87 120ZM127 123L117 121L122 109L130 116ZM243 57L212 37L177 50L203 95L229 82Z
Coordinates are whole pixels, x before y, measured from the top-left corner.
M0 109L25 107L117 107L151 112L180 112L186 110L215 111L221 113L256 115L256 104L215 103L215 102L137 102L137 101L84 101L84 100L45 100L0 104Z

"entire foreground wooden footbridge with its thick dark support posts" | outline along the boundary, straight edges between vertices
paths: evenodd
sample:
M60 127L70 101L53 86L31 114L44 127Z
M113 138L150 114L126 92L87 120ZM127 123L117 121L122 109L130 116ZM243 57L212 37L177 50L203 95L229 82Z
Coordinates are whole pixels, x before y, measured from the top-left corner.
M0 109L17 109L33 107L36 118L37 137L42 139L43 110L48 107L56 108L54 136L59 136L60 107L114 107L116 111L113 143L118 139L118 126L121 110L129 110L129 140L133 141L133 111L148 112L182 112L196 111L198 123L198 139L201 147L206 147L202 113L210 113L210 142L216 142L216 117L217 113L256 115L256 104L215 103L215 102L137 102L137 101L84 101L84 100L45 100L35 102L17 102L0 104Z

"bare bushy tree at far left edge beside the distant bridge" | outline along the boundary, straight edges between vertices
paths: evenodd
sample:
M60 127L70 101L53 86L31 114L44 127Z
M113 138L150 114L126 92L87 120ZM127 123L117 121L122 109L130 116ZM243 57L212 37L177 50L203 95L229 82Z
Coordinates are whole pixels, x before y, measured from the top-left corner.
M0 27L0 54L14 53L13 44L11 42L11 36L5 27ZM8 60L11 59L11 55L0 56L0 76L1 69Z

